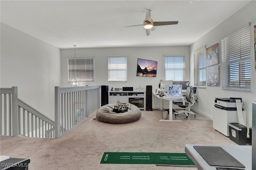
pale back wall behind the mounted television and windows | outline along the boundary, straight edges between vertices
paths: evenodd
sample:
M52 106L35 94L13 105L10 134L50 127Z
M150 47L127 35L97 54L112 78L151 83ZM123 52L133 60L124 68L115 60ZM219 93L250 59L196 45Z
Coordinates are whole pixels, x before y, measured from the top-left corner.
M82 85L108 85L111 87L134 87L141 85L146 91L146 85L152 85L155 92L158 81L165 79L164 72L164 55L182 55L186 57L186 80L189 80L189 47L172 46L172 47L118 47L118 48L80 48L76 44L76 57L94 57L94 83L82 83ZM108 56L127 56L128 73L127 83L108 83ZM70 87L68 83L68 57L74 57L74 49L61 49L61 79L62 87ZM136 77L137 59L149 59L158 61L156 77ZM81 86L81 83L80 83ZM153 108L160 108L160 101L154 100ZM163 108L169 108L168 101L163 102Z

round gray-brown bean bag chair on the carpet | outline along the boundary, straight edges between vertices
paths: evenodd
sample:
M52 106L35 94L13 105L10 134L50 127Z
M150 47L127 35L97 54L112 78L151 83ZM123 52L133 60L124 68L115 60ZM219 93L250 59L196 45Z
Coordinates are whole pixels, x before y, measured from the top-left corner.
M128 107L128 111L124 113L116 113L113 111L114 107ZM96 119L105 123L130 123L137 121L141 117L140 109L130 103L110 103L98 109Z

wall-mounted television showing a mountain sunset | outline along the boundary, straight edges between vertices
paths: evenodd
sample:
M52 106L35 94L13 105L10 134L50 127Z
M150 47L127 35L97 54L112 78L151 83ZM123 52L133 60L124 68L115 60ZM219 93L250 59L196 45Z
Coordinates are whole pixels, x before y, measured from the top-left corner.
M138 58L137 76L138 77L156 77L157 61Z

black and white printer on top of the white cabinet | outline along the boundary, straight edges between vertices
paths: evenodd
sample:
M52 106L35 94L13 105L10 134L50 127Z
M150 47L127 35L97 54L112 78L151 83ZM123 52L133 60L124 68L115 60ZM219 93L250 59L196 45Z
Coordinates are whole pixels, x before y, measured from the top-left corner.
M223 109L226 111L236 111L236 99L239 99L242 103L242 98L240 97L230 97L230 98L215 97L214 107L217 107L219 109Z

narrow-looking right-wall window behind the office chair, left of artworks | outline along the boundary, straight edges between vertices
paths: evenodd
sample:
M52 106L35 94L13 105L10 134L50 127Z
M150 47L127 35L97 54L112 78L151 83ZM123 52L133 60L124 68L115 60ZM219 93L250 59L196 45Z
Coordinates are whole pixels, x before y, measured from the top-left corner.
M198 49L194 53L194 86L206 87L206 49Z

